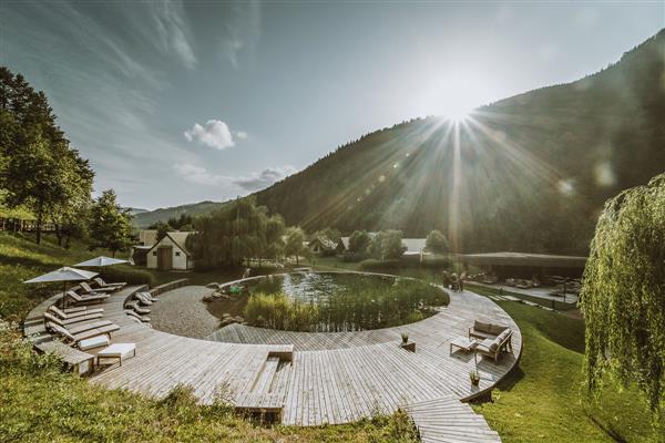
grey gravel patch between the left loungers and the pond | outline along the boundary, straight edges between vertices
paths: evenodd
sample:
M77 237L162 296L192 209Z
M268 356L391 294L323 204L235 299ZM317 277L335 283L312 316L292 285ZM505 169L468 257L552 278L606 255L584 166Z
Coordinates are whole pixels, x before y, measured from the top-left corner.
M164 332L202 339L219 328L219 319L208 312L204 296L213 289L204 286L184 286L158 296L150 318L152 326Z

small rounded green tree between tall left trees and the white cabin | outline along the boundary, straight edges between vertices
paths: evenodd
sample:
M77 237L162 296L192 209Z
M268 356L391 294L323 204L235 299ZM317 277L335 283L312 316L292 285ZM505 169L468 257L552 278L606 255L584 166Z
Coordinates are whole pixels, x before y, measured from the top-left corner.
M110 249L113 257L132 241L132 215L116 202L115 192L108 189L90 209L91 247Z

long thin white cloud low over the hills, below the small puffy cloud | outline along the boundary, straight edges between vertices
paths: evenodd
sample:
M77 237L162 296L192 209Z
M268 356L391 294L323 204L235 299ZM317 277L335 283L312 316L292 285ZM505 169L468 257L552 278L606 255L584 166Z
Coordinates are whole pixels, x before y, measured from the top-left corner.
M266 188L297 171L293 166L266 167L257 173L234 177L214 174L208 172L203 166L196 166L186 163L173 165L173 169L177 173L177 175L187 182L195 183L197 185L222 185L227 187L236 186L245 192L254 192Z

